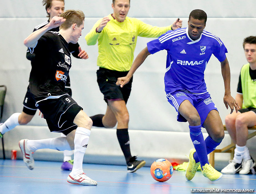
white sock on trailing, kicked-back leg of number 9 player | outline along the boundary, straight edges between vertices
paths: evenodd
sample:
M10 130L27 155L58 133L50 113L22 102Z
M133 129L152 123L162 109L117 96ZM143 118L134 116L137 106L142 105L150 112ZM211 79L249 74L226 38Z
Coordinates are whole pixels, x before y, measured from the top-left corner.
M55 137L50 139L27 140L27 147L35 152L39 149L71 150L66 137Z

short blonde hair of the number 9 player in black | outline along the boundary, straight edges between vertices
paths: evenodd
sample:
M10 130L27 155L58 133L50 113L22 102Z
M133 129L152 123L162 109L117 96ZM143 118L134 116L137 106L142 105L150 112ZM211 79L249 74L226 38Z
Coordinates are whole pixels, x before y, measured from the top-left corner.
M60 25L59 29L68 29L71 27L73 24L77 24L79 27L80 25L83 24L84 21L84 13L81 10L74 10L74 9L69 9L63 12L60 17L64 17L66 21Z

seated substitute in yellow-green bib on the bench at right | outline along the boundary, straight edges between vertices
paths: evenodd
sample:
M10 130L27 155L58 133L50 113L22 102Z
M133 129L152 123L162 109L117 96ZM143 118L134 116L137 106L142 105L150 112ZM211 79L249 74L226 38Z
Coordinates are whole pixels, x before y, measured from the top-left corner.
M243 65L237 86L235 101L242 107L238 113L226 116L225 123L235 145L233 160L221 170L226 174L255 174L255 162L246 146L248 127L256 125L256 37L244 39L244 53L248 61Z

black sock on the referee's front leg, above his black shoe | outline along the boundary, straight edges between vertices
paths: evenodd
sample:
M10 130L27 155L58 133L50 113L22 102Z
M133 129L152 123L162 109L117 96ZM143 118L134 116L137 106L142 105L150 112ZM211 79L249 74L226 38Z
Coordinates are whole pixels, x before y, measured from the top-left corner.
M124 153L126 163L128 164L130 158L132 157L130 151L130 139L128 134L128 129L117 129L116 130L117 139L119 141L120 147Z

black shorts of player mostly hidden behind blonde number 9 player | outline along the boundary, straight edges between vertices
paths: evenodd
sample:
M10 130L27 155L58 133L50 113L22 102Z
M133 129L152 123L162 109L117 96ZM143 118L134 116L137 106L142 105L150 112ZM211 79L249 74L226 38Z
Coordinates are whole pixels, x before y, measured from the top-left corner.
M69 86L67 86L67 88L65 87L65 92L67 92L70 96L72 96L70 82L69 82ZM23 101L23 110L22 111L29 115L35 115L36 110L37 110L36 100L34 99L34 95L30 92L29 86L28 86L27 93L26 93L24 101Z

